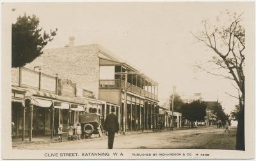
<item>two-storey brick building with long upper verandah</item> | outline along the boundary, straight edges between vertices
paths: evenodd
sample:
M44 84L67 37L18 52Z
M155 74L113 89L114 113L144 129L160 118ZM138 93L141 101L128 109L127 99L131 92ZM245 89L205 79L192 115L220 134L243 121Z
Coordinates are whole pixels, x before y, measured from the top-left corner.
M42 56L26 67L32 69L34 66L41 66L44 73L58 73L59 77L74 80L77 87L92 91L95 98L107 102L102 105L103 116L110 112L111 106L115 106L120 129L147 130L156 126L157 82L100 45L70 44L62 48L44 50ZM135 73L127 75L126 99L124 72Z

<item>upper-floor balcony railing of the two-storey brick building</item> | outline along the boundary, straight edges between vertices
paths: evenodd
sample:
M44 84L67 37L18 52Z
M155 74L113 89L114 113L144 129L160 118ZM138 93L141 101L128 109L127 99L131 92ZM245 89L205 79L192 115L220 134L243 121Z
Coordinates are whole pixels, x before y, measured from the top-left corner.
M119 79L100 80L99 88L124 88L124 82L125 81L119 80ZM141 96L146 96L148 98L152 98L153 100L158 100L157 95L154 95L153 93L145 91L144 89L141 89L137 86L134 86L133 84L131 84L129 82L127 82L127 91L131 91L132 93L136 93Z

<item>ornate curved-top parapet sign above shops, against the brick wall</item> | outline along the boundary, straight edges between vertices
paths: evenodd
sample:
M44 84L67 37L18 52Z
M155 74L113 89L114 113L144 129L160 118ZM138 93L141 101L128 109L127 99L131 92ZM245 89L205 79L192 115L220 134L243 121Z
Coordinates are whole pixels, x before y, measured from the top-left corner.
M76 96L76 84L68 79L59 79L58 95Z

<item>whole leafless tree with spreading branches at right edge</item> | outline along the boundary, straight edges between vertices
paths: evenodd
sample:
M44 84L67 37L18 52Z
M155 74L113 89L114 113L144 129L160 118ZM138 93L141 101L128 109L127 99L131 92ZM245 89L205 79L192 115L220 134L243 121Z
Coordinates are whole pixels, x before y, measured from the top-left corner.
M228 19L221 21L221 17L227 16ZM244 147L244 49L245 49L245 29L242 26L243 13L230 13L225 11L221 17L216 17L214 25L209 20L202 22L202 31L193 34L196 40L204 43L207 49L214 52L214 57L209 60L209 63L217 65L215 72L209 72L212 75L218 75L225 79L230 79L236 84L232 84L237 89L239 107L241 113L239 114L237 125L236 149L245 150ZM202 66L198 66L202 68ZM222 73L220 73L220 71ZM225 73L223 73L225 71Z

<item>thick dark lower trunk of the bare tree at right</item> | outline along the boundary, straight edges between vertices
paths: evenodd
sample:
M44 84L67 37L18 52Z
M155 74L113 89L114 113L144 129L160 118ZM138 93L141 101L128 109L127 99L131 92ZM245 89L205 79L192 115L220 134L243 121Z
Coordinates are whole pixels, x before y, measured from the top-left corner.
M244 146L244 105L241 108L241 116L239 117L236 132L236 150L245 150Z

